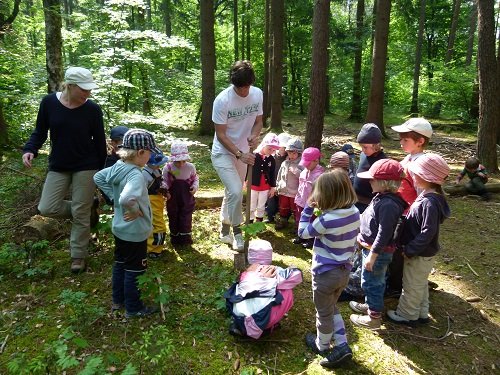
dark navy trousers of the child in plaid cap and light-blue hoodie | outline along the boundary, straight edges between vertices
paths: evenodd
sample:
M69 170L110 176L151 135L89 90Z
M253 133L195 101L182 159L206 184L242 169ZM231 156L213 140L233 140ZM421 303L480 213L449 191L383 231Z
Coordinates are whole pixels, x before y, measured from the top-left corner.
M115 236L113 264L113 303L124 304L125 310L135 313L144 307L137 286L137 277L146 270L147 240L124 241Z

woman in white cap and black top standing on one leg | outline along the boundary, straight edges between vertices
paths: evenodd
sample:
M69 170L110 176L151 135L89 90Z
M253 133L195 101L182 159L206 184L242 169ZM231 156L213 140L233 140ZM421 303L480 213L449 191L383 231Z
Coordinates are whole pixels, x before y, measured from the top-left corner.
M101 108L89 100L96 88L85 68L69 68L62 92L45 96L40 103L36 127L23 147L23 163L33 159L50 130L49 171L38 210L43 216L72 219L71 271L85 269L90 239L90 216L95 184L93 176L106 160L106 136ZM71 187L71 200L65 200Z

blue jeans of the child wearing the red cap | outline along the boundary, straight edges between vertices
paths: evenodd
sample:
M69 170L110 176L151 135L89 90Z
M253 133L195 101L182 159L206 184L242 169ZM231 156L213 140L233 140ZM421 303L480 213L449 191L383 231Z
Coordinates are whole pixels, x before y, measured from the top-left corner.
M365 263L370 250L363 248L362 252L361 287L365 292L365 301L368 305L370 316L377 315L374 317L379 318L384 310L385 275L387 267L392 260L392 253L380 253L373 264L372 271L367 271Z

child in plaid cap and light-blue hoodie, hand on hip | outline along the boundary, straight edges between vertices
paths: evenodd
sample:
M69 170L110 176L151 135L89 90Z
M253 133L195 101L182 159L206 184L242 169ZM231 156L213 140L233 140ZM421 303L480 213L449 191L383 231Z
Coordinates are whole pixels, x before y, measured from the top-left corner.
M153 230L148 190L141 169L152 153L161 154L153 135L130 129L117 151L121 160L94 175L94 182L114 202L111 226L115 237L112 311L125 307L125 317L143 317L158 310L145 306L137 278L146 271L147 240Z

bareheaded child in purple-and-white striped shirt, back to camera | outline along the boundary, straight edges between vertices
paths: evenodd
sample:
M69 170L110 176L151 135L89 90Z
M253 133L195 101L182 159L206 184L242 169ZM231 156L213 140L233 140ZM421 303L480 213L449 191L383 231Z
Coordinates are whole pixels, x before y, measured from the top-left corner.
M325 357L320 365L327 368L352 357L336 303L349 281L350 258L359 232L356 201L356 193L344 170L324 173L316 180L299 222L299 236L314 238L311 274L316 334L308 333L306 344L314 353ZM314 213L315 209L321 212ZM317 217L311 222L313 214ZM332 338L335 346L330 349Z

